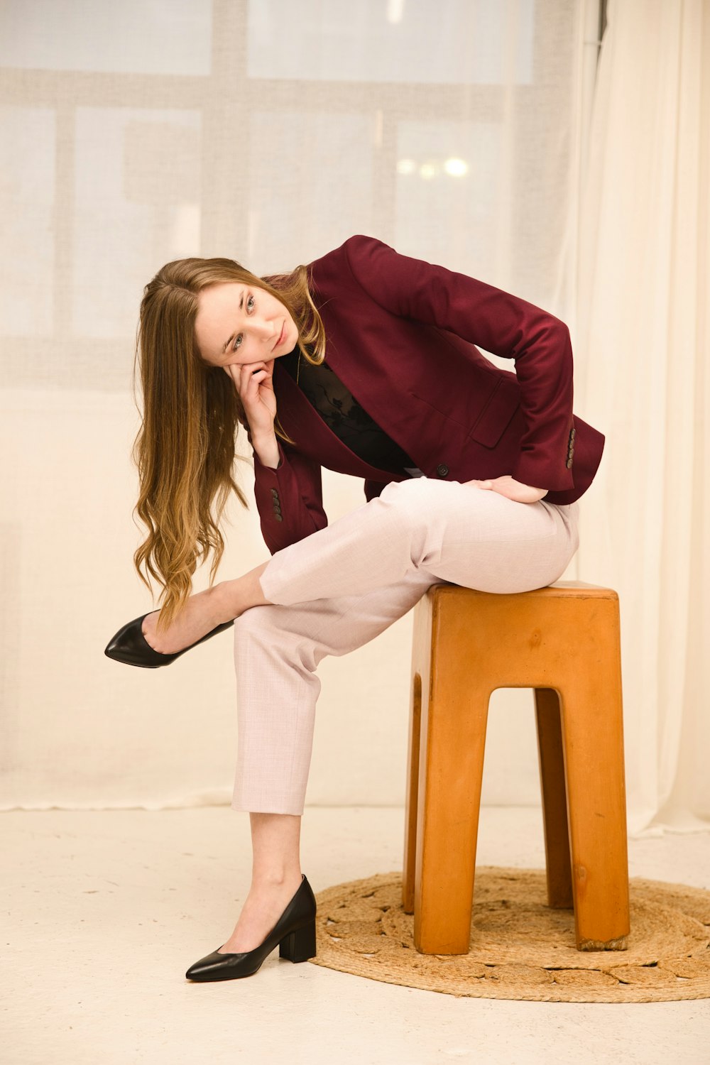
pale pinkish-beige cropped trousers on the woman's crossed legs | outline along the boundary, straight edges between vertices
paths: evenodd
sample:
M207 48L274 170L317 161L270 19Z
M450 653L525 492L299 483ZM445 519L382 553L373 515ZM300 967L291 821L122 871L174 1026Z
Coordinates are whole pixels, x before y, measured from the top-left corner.
M551 584L577 550L578 517L578 503L514 503L416 477L273 555L260 580L274 605L234 622L232 808L303 813L321 658L367 643L432 585L502 593Z

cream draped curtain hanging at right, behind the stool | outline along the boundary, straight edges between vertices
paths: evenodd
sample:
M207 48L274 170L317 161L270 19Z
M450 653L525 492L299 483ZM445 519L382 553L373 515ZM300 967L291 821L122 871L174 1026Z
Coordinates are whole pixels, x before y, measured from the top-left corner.
M710 824L710 4L610 0L577 389L607 454L578 564L618 590L629 822Z

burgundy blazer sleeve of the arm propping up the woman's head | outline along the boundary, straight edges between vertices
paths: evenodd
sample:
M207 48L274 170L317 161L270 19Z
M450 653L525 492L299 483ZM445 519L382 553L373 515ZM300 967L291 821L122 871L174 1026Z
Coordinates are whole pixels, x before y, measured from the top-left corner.
M247 436L253 450L249 429ZM253 453L254 498L262 536L273 555L328 524L323 509L319 463L293 448L286 450L278 437L277 444L279 464L276 470L264 465L257 452Z

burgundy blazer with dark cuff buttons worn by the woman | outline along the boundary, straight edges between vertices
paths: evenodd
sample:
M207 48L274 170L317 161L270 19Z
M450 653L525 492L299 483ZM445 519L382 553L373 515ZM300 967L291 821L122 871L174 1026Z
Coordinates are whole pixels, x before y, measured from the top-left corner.
M604 436L573 414L566 325L508 292L371 236L351 236L311 264L328 363L427 477L505 474L573 503L589 488ZM475 346L515 360L499 370ZM274 362L282 427L279 465L254 453L254 494L275 552L324 528L321 466L364 478L365 498L408 480L364 462L326 425L285 366ZM251 433L248 433L251 443Z

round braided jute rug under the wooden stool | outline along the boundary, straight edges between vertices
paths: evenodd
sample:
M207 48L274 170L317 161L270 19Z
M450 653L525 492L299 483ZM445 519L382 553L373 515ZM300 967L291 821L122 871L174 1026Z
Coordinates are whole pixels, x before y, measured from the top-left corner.
M710 891L634 878L624 951L578 951L572 910L539 869L478 867L467 954L420 954L401 873L316 894L314 965L457 998L664 1002L710 998Z

